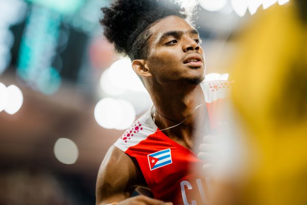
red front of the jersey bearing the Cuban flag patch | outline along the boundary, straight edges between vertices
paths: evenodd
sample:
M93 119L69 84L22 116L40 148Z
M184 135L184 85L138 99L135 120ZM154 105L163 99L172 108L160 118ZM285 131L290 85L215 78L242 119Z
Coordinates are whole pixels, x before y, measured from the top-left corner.
M169 140L146 139L130 148L128 154L138 160L155 198L176 204L204 201L207 185L199 172L203 161L190 150Z

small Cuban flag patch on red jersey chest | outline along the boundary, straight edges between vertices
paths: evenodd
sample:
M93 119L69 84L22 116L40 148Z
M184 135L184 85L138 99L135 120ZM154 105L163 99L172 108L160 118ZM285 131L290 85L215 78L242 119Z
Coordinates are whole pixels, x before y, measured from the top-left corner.
M148 154L147 158L150 171L172 163L170 148L152 154Z

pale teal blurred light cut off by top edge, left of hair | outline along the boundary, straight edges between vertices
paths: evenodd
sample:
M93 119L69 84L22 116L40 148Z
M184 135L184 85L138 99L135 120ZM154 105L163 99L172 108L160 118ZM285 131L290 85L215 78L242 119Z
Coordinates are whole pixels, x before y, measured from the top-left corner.
M44 6L60 12L61 14L73 14L83 4L84 0L27 0L28 2Z

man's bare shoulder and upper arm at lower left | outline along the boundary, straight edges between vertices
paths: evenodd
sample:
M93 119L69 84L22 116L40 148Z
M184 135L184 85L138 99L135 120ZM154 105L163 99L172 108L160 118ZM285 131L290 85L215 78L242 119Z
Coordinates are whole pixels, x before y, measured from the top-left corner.
M138 185L138 171L133 160L112 146L101 162L96 182L96 204L122 201Z

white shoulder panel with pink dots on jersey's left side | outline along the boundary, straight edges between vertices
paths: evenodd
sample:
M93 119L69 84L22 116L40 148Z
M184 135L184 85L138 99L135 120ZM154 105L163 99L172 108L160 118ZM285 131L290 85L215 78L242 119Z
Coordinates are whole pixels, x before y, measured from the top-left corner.
M129 147L138 145L155 131L155 123L151 118L150 111L147 111L117 139L114 145L125 152Z

